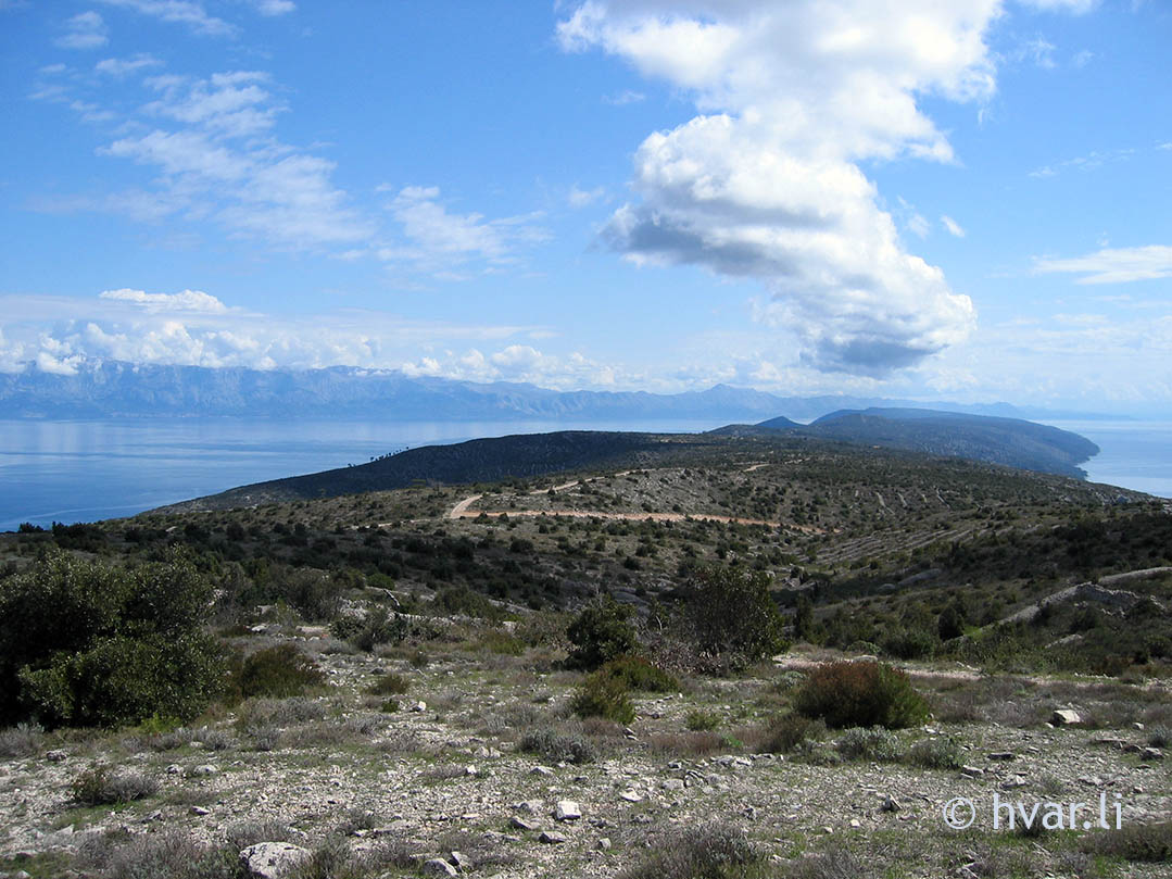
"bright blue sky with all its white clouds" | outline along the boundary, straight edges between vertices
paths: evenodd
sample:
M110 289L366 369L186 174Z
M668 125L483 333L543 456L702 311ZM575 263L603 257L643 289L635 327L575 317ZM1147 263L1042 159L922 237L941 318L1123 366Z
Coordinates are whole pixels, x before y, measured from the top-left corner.
M1172 414L1164 0L0 0L0 372Z

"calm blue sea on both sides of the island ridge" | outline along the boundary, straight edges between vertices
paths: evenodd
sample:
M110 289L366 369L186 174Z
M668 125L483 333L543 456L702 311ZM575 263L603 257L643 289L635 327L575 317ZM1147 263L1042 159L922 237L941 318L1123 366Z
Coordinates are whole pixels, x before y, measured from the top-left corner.
M134 516L402 449L550 430L699 432L721 421L386 422L265 418L0 420L0 531ZM1172 497L1172 422L1050 422L1102 452L1091 482Z

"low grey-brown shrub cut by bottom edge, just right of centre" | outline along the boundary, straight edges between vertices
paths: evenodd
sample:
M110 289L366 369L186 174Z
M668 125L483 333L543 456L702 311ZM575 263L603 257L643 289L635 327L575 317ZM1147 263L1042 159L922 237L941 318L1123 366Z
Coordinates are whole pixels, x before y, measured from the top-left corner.
M755 875L764 863L745 833L727 824L710 824L672 834L656 845L621 879L742 879Z

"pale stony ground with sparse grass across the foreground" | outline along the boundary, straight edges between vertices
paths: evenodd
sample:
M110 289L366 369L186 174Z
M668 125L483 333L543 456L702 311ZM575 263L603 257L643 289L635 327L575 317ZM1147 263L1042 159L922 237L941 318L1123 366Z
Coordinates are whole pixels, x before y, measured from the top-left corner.
M1166 861L1082 852L1083 829L1023 834L995 830L992 815L997 797L1027 810L1088 803L1079 823L1097 820L1103 795L1112 826L1116 803L1125 826L1168 820L1158 730L1172 724L1172 700L1159 684L918 677L934 715L897 734L898 749L955 740L962 766L933 769L844 756L833 731L758 752L761 724L802 677L785 661L641 695L622 727L574 718L580 675L557 670L546 650L496 654L452 638L376 656L315 631L252 638L314 653L328 687L253 700L190 729L28 734L23 755L0 762L0 873L118 874L111 850L182 834L241 849L393 844L397 861L372 875L612 877L670 846L673 833L718 824L747 834L770 875L838 875L836 858L853 858L859 875L1172 874ZM369 693L387 672L407 683L393 711ZM522 750L534 730L579 742L593 759ZM19 750L15 731L7 736L9 752ZM81 805L71 785L96 764L148 779L148 795ZM945 823L958 797L976 808L966 830ZM820 873L799 872L818 864Z

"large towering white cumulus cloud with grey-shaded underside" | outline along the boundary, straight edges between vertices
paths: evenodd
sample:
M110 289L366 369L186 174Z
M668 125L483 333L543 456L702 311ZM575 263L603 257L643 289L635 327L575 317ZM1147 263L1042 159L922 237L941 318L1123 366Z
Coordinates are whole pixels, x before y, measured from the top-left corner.
M635 155L639 200L602 238L639 265L762 282L756 309L824 370L881 375L962 341L968 297L908 253L864 159L950 161L921 95L994 90L999 0L587 2L558 28L688 90L702 115Z

